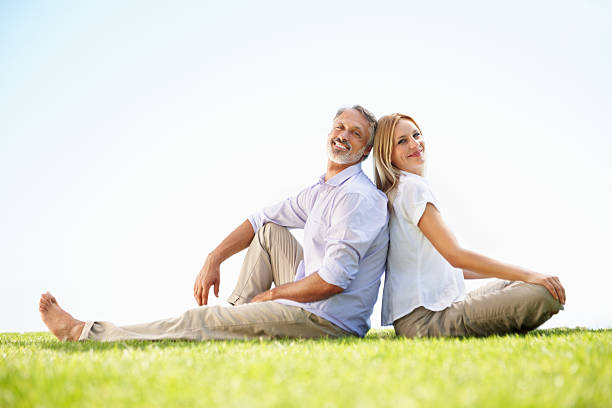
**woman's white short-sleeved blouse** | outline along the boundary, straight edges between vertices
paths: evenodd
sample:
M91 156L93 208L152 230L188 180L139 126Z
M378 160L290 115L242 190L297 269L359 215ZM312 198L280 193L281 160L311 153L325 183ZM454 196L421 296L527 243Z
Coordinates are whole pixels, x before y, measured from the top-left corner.
M427 203L439 210L427 180L402 171L389 220L383 325L419 306L439 311L465 299L463 271L451 266L418 227Z

